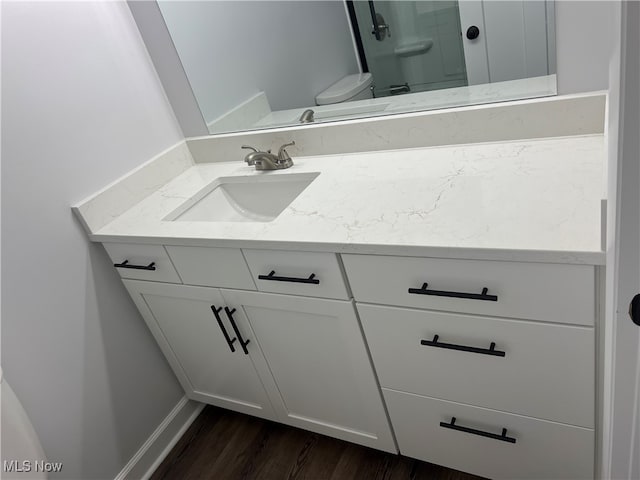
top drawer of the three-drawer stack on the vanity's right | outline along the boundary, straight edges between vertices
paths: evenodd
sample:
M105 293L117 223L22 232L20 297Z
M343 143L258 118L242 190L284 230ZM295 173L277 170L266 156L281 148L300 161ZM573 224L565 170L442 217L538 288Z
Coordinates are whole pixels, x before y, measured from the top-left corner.
M376 255L342 260L360 302L594 324L591 266Z

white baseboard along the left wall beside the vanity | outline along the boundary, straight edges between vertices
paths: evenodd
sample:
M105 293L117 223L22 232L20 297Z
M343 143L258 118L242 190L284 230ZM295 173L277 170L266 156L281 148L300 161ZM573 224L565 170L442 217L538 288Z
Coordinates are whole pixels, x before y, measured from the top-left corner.
M186 396L182 397L114 480L148 479L198 417L204 406L204 403L189 400Z

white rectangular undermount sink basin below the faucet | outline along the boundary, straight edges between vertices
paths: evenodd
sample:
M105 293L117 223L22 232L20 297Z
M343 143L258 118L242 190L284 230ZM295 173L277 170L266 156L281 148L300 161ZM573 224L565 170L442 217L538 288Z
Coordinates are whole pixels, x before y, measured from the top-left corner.
M317 172L220 177L171 212L180 222L270 222L320 175Z

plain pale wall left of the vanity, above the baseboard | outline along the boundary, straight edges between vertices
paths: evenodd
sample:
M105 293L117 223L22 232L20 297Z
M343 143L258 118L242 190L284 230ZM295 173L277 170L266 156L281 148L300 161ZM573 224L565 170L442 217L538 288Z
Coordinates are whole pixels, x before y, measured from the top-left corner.
M2 3L2 367L57 478L113 478L183 392L71 205L181 140L124 3Z

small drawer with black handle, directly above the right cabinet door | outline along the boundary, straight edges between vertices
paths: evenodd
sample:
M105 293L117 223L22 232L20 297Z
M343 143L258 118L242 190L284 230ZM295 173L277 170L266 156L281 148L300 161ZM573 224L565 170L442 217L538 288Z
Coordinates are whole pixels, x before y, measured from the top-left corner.
M349 299L333 253L243 250L253 280L262 292Z

